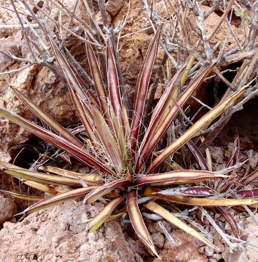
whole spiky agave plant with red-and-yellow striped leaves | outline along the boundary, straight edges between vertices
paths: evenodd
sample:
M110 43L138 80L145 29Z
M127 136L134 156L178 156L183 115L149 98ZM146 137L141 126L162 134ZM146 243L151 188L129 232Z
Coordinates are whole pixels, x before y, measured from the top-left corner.
M106 37L107 86L104 84L105 81L102 78L94 50L91 44L86 42L87 57L95 87L94 94L76 76L73 66L49 36L41 21L33 12L31 15L49 39L81 124L75 130L68 131L12 85L10 87L17 98L44 125L28 121L4 108L0 108L0 115L47 143L60 148L82 164L91 167L92 172L91 174L79 174L45 165L38 166L34 170L27 170L0 162L5 173L18 178L24 184L52 195L46 198L30 197L30 200L37 202L20 214L32 213L79 197L85 197L84 204L102 201L105 204L104 209L88 223L90 232L98 229L104 222L118 219L128 213L138 238L153 254L158 256L142 216L143 210L160 215L179 229L216 248L196 229L171 213L168 202L175 205L212 206L217 207L225 215L235 235L239 237L237 225L224 207L257 206L258 198L253 197L257 196L257 192L244 190L248 183L257 179L257 172L249 175L236 186L238 177L231 175L230 172L219 173L209 170L203 156L191 139L207 128L230 104L242 96L245 88L232 92L228 98L199 118L186 131L176 133L176 139L168 143L167 131L182 112L185 103L216 66L215 63L205 66L202 72L184 86L189 69L193 64L193 57L190 56L187 63L167 84L152 112L148 127L145 127L142 120L160 29L157 29L152 39L140 70L135 88L133 110L130 112L132 117L129 117L128 108L123 103L119 87L116 49L109 37L111 29L107 29ZM182 87L183 91L179 94L178 90ZM180 149L186 147L197 160L200 166L198 170L184 169L172 161L173 155L179 154ZM238 145L235 148L238 148ZM232 153L228 166L236 163L236 154L237 152ZM215 185L213 188L211 181ZM230 191L231 194L223 195L229 192L229 188L234 188ZM4 192L28 199L27 196ZM235 192L241 199L236 197Z

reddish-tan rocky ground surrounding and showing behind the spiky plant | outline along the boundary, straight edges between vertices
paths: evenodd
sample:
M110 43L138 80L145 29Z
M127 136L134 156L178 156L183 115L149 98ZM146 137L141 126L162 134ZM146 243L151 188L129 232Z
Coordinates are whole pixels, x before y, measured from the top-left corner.
M127 13L128 1L109 0L108 2L109 19L116 26L118 21L121 21L122 17ZM70 3L66 1L66 3L72 6L71 1ZM157 1L157 6L158 4L159 1ZM83 14L82 3L80 3L79 10ZM0 8L0 14L2 23L17 24L12 12ZM205 24L206 29L208 31L212 30L214 21L218 19L219 16L216 14L209 17ZM145 29L147 23L147 13L142 1L131 0L131 9L123 33L129 34ZM241 33L237 27L234 30L236 34ZM121 69L125 79L125 86L130 96L134 92L133 86L136 83L137 73L151 38L152 30L144 30L121 38ZM218 31L214 41L219 38ZM233 41L231 42L233 43ZM82 44L79 41L76 42L71 38L68 45L73 48L73 55L75 57L81 60L85 58L82 55ZM232 45L228 48L232 48ZM11 51L13 54L21 57L28 56L28 49L19 31L1 30L0 50L5 52ZM161 58L159 56L158 61ZM83 64L83 61L81 62ZM22 66L24 66L22 63L13 63L11 59L0 54L1 72L17 69ZM49 69L42 66L31 66L15 74L0 76L0 106L5 106L24 117L30 118L31 115L16 100L8 89L8 84L5 80L22 89L47 113L64 126L77 122L78 118L75 112L71 110L72 102L69 98L69 92ZM242 171L248 169L254 170L257 167L258 139L256 130L258 123L256 102L255 100L255 102L253 101L246 105L244 110L249 112L248 117L246 117L246 113L245 115L243 112L237 113L238 115L234 116L234 119L231 120L212 147L210 147L214 167L216 165L215 168L225 166L234 141L236 127L242 140L242 157L243 159L250 157L250 160L243 166ZM16 127L3 118L0 119L0 134L0 160L2 161L11 160L11 151L8 151L11 147L31 139L31 135L28 132ZM11 190L12 181L0 175L0 188L7 189L7 187ZM15 223L13 215L17 213L16 204L17 202L12 197L0 195L0 262L159 261L159 259L148 255L144 246L132 234L131 227L127 223L126 218L106 223L97 231L87 233L85 230L86 225L82 222L92 218L102 208L100 204L85 206L81 201L69 201L56 207L48 208L47 210L32 213L21 222ZM258 246L258 226L255 222L246 212L232 211L232 213L237 222L239 222L241 238ZM247 246L248 253L241 250L234 250L230 253L225 241L210 226L208 221L201 220L197 210L188 214L203 224L205 229L214 236L214 244L221 251L215 251L203 246L202 243L199 243L193 237L189 237L186 233L164 222L167 231L177 243L177 246L175 246L167 240L164 231L157 222L149 221L148 229L152 233L152 239L159 249L160 257L164 262L257 261L258 249L253 246ZM210 214L225 232L228 234L231 233L223 217L212 211ZM258 215L256 217L258 218ZM241 220L242 222L240 222Z

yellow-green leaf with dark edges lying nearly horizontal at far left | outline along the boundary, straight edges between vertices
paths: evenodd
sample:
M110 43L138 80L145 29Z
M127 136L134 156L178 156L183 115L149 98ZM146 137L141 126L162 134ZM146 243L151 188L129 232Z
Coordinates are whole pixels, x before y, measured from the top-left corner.
M5 173L15 176L17 178L25 179L25 180L32 180L36 182L52 184L52 185L66 185L66 186L79 186L81 187L81 183L79 179L76 178L69 178L60 175L52 175L52 174L45 174L35 171L30 171L26 169L13 169L8 168L3 170ZM99 185L98 182L95 182L96 186Z

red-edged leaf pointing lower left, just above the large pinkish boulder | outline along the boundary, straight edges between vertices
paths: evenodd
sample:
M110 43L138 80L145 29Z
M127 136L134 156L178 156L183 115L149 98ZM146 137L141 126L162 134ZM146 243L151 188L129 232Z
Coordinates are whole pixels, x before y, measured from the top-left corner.
M31 205L30 207L28 207L27 209L25 209L23 212L18 213L19 214L29 214L41 209L45 209L48 207L52 207L54 205L58 205L61 204L67 200L70 199L75 199L78 197L84 197L85 195L89 194L89 192L91 192L92 190L94 190L96 188L96 186L88 186L88 187L81 187L81 188L76 188L67 192L62 192L59 193L57 195L51 196L51 197L47 197L33 205Z

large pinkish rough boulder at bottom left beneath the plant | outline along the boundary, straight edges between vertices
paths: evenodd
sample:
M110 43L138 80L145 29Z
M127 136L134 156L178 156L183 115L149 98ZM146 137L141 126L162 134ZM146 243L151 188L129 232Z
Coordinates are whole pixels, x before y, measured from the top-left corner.
M142 261L127 244L115 221L88 233L86 221L99 211L68 201L28 215L22 222L4 223L0 230L0 261Z

